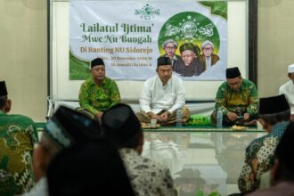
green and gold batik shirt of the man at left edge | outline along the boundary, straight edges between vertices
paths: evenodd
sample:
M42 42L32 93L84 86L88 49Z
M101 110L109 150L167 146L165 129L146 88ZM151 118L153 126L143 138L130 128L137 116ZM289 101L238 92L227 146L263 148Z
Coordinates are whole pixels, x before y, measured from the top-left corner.
M0 110L0 195L28 192L35 184L32 151L37 127L32 119Z

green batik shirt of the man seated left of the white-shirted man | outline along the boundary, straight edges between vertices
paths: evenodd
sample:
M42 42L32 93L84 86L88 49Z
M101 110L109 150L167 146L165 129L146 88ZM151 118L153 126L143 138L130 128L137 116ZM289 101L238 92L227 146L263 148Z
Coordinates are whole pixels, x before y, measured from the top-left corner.
M93 78L89 78L81 85L78 99L82 108L96 115L118 104L120 94L114 80L104 78L102 86L97 86Z

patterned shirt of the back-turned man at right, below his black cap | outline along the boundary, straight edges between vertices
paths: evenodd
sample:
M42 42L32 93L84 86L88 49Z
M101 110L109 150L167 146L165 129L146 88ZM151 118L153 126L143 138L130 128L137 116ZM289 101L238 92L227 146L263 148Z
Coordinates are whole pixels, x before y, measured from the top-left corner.
M261 176L271 168L275 148L288 125L289 122L276 124L270 134L255 139L246 148L245 164L238 179L241 192L257 190Z

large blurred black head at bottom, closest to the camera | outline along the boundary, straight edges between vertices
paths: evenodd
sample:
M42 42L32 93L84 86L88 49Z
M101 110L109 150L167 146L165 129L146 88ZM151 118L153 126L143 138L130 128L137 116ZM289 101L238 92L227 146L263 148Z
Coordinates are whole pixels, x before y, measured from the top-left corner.
M134 195L117 149L105 140L61 151L48 167L49 195Z

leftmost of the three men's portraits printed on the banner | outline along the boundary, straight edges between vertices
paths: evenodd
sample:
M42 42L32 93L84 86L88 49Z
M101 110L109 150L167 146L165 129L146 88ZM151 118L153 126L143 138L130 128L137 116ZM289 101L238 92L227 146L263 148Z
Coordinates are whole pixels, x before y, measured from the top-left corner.
M174 39L167 39L162 44L163 50L166 52L162 57L169 57L172 67L174 68L175 62L181 60L181 56L176 55L177 43Z

